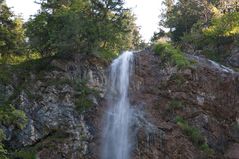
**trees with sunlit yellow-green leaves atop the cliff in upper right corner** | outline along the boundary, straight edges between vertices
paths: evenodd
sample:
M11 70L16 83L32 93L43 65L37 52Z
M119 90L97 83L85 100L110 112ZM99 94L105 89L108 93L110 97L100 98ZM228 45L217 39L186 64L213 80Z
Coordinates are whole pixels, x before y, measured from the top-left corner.
M231 52L228 46L237 46L239 41L239 4L226 0L165 0L160 30L153 40L169 36L175 45L184 51L195 51L212 60L225 63ZM189 50L189 48L191 48ZM193 50L192 50L193 49Z

